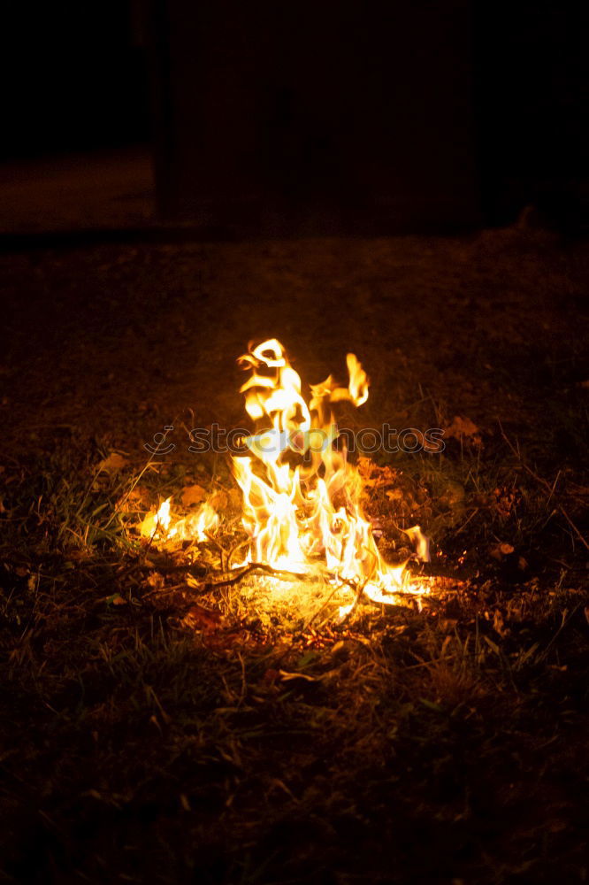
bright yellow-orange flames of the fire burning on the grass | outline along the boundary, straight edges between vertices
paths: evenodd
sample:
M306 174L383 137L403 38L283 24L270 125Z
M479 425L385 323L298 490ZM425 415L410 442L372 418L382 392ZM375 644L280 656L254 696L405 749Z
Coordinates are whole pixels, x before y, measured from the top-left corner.
M264 570L264 581L321 581L344 589L354 601L340 606L345 616L357 598L396 604L407 594L427 592L408 560L391 566L382 557L362 506L363 480L348 458L334 410L368 398L362 364L348 353L348 384L330 375L302 393L302 381L276 339L251 348L238 359L249 373L241 386L255 430L233 455L233 474L242 495L242 527L249 544L236 573L249 566ZM219 515L209 502L189 517L174 518L170 499L143 520L150 541L205 541L218 530ZM429 560L429 544L418 526L404 530L414 558Z

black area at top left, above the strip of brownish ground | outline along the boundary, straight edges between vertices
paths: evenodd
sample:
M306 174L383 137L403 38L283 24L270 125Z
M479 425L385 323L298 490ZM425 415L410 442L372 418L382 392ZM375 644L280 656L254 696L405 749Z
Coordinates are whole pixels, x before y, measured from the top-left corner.
M0 159L149 139L141 2L4 4Z

